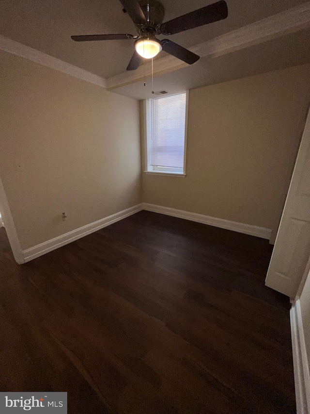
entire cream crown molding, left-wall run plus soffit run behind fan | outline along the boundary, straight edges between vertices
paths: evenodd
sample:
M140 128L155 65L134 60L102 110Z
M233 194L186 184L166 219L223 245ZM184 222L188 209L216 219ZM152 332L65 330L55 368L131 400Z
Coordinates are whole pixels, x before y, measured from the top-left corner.
M202 42L189 48L192 52L205 56L220 56L242 50L268 40L281 37L285 34L298 32L310 27L310 1L302 3L284 12L278 13L263 20L243 26L232 32L222 34L214 39ZM140 66L135 71L125 71L109 79L102 78L80 67L63 62L53 56L47 55L39 50L18 43L15 40L0 35L0 50L29 59L40 65L50 67L67 75L74 76L86 82L107 88L109 90L142 81L150 78L152 65L148 63L145 67ZM196 63L196 65L199 64ZM160 76L177 69L188 66L186 63L173 56L165 56L154 61L154 75Z

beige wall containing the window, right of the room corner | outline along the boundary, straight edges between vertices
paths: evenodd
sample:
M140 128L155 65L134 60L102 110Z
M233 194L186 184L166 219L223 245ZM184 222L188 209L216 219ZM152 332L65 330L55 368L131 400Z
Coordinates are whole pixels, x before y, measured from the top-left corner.
M190 90L187 175L143 174L143 201L271 229L309 83L304 65Z

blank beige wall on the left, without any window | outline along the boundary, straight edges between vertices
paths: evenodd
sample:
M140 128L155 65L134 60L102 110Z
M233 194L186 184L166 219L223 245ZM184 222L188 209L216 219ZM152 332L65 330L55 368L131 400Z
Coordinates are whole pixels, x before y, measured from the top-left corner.
M0 177L23 249L140 203L138 102L1 51Z

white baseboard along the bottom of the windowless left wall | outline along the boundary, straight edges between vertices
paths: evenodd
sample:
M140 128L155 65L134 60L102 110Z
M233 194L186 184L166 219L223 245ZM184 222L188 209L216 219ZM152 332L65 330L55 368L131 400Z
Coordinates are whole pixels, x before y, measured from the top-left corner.
M102 218L101 220L94 221L93 223L87 224L86 226L80 227L79 229L73 230L72 232L62 234L61 236L55 237L54 239L48 240L47 242L41 243L37 246L23 250L24 261L29 262L36 257L42 256L49 251L55 250L56 248L78 240L81 237L87 236L87 234L96 232L97 230L107 227L116 221L122 220L129 215L138 213L141 210L142 203L120 211L119 213L109 215L108 217Z

